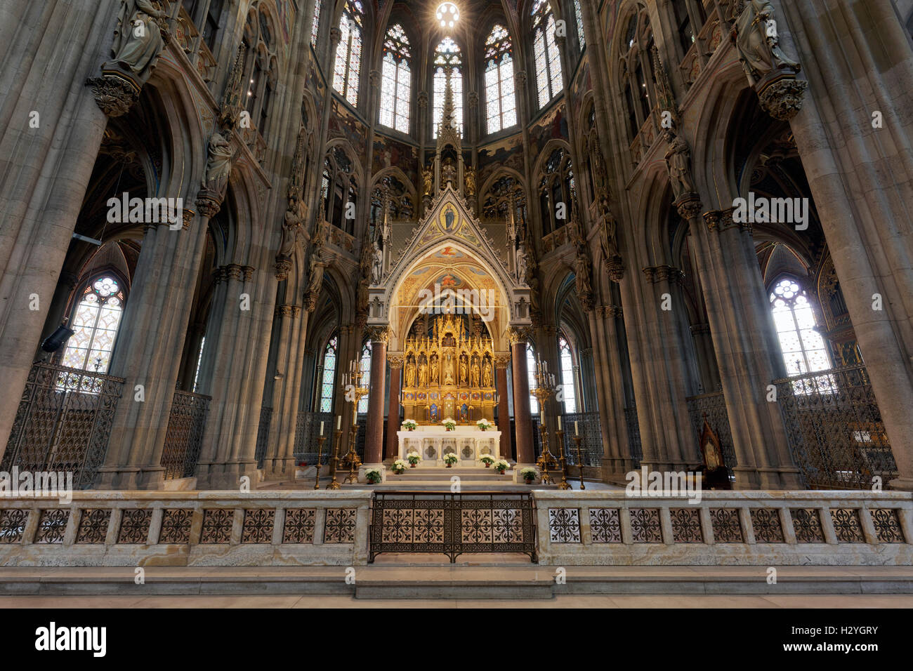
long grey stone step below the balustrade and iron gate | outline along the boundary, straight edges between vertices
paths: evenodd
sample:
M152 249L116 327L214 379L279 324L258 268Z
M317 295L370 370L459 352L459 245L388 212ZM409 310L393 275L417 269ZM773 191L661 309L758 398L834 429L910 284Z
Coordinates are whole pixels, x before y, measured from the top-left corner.
M406 559L404 559L406 558ZM421 563L408 563L413 558ZM551 599L559 594L913 594L913 569L905 566L780 566L776 584L766 566L574 566L566 582L554 567L498 564L486 555L462 555L456 564L436 556L381 555L344 566L159 567L146 566L145 583L132 567L0 568L0 595L59 594L347 594L358 599ZM510 556L513 561L513 556ZM442 556L446 562L446 557ZM476 563L472 563L475 561ZM516 561L524 561L518 555Z

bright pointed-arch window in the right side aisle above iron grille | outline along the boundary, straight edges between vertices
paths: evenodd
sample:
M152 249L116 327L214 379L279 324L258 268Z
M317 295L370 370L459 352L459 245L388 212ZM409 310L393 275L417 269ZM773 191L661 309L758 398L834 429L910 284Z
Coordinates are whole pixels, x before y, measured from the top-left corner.
M781 279L771 291L771 306L787 374L828 370L831 358L827 346L815 330L812 305L798 282L792 278ZM823 391L820 380L815 386ZM833 381L825 379L824 387L829 391Z

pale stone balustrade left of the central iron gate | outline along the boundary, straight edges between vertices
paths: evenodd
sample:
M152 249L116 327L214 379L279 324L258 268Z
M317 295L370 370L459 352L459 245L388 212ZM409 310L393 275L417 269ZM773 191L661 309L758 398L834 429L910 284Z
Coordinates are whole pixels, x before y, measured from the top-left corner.
M371 491L77 491L0 499L0 566L352 566Z

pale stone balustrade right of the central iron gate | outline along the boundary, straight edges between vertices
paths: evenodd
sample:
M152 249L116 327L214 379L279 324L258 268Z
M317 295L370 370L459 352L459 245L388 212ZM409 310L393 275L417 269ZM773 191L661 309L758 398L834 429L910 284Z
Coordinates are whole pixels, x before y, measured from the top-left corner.
M910 565L913 495L704 491L687 498L537 491L547 565Z

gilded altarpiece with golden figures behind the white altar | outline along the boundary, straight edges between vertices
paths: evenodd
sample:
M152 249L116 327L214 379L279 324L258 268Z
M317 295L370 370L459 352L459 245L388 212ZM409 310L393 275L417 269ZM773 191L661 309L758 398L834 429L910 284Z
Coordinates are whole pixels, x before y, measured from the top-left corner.
M494 423L494 350L491 338L469 334L461 316L436 316L430 336L405 341L404 417L418 425L452 419L456 425Z

